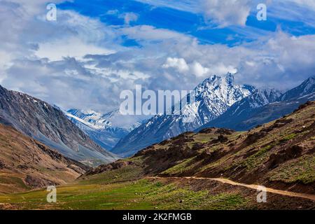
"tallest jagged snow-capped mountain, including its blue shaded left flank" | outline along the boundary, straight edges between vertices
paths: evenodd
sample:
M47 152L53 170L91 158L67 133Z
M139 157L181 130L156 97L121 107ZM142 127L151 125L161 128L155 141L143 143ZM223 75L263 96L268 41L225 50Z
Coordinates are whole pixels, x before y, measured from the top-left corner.
M112 152L132 155L139 149L193 131L221 116L225 111L255 92L251 85L236 85L234 76L212 76L195 87L195 102L184 106L180 115L157 115L121 139ZM186 123L187 119L192 122Z

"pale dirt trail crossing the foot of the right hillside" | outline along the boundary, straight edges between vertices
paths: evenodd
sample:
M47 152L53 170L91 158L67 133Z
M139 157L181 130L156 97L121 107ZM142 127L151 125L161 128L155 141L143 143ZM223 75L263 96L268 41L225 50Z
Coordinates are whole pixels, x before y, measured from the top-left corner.
M158 176L153 176L153 177L148 177L148 179L196 179L196 180L209 180L209 181L218 181L221 183L227 183L232 186L241 186L244 188L251 188L254 190L258 189L258 185L254 184L245 184L245 183L237 183L235 181L231 181L229 179L223 179L223 178L207 178L207 177L195 177L195 176L189 176L189 177L158 177ZM315 201L315 195L308 195L308 194L302 194L302 193L294 193L286 190L276 190L273 188L266 188L267 193L274 193L277 195L284 195L288 197L300 197L308 200L313 200Z

